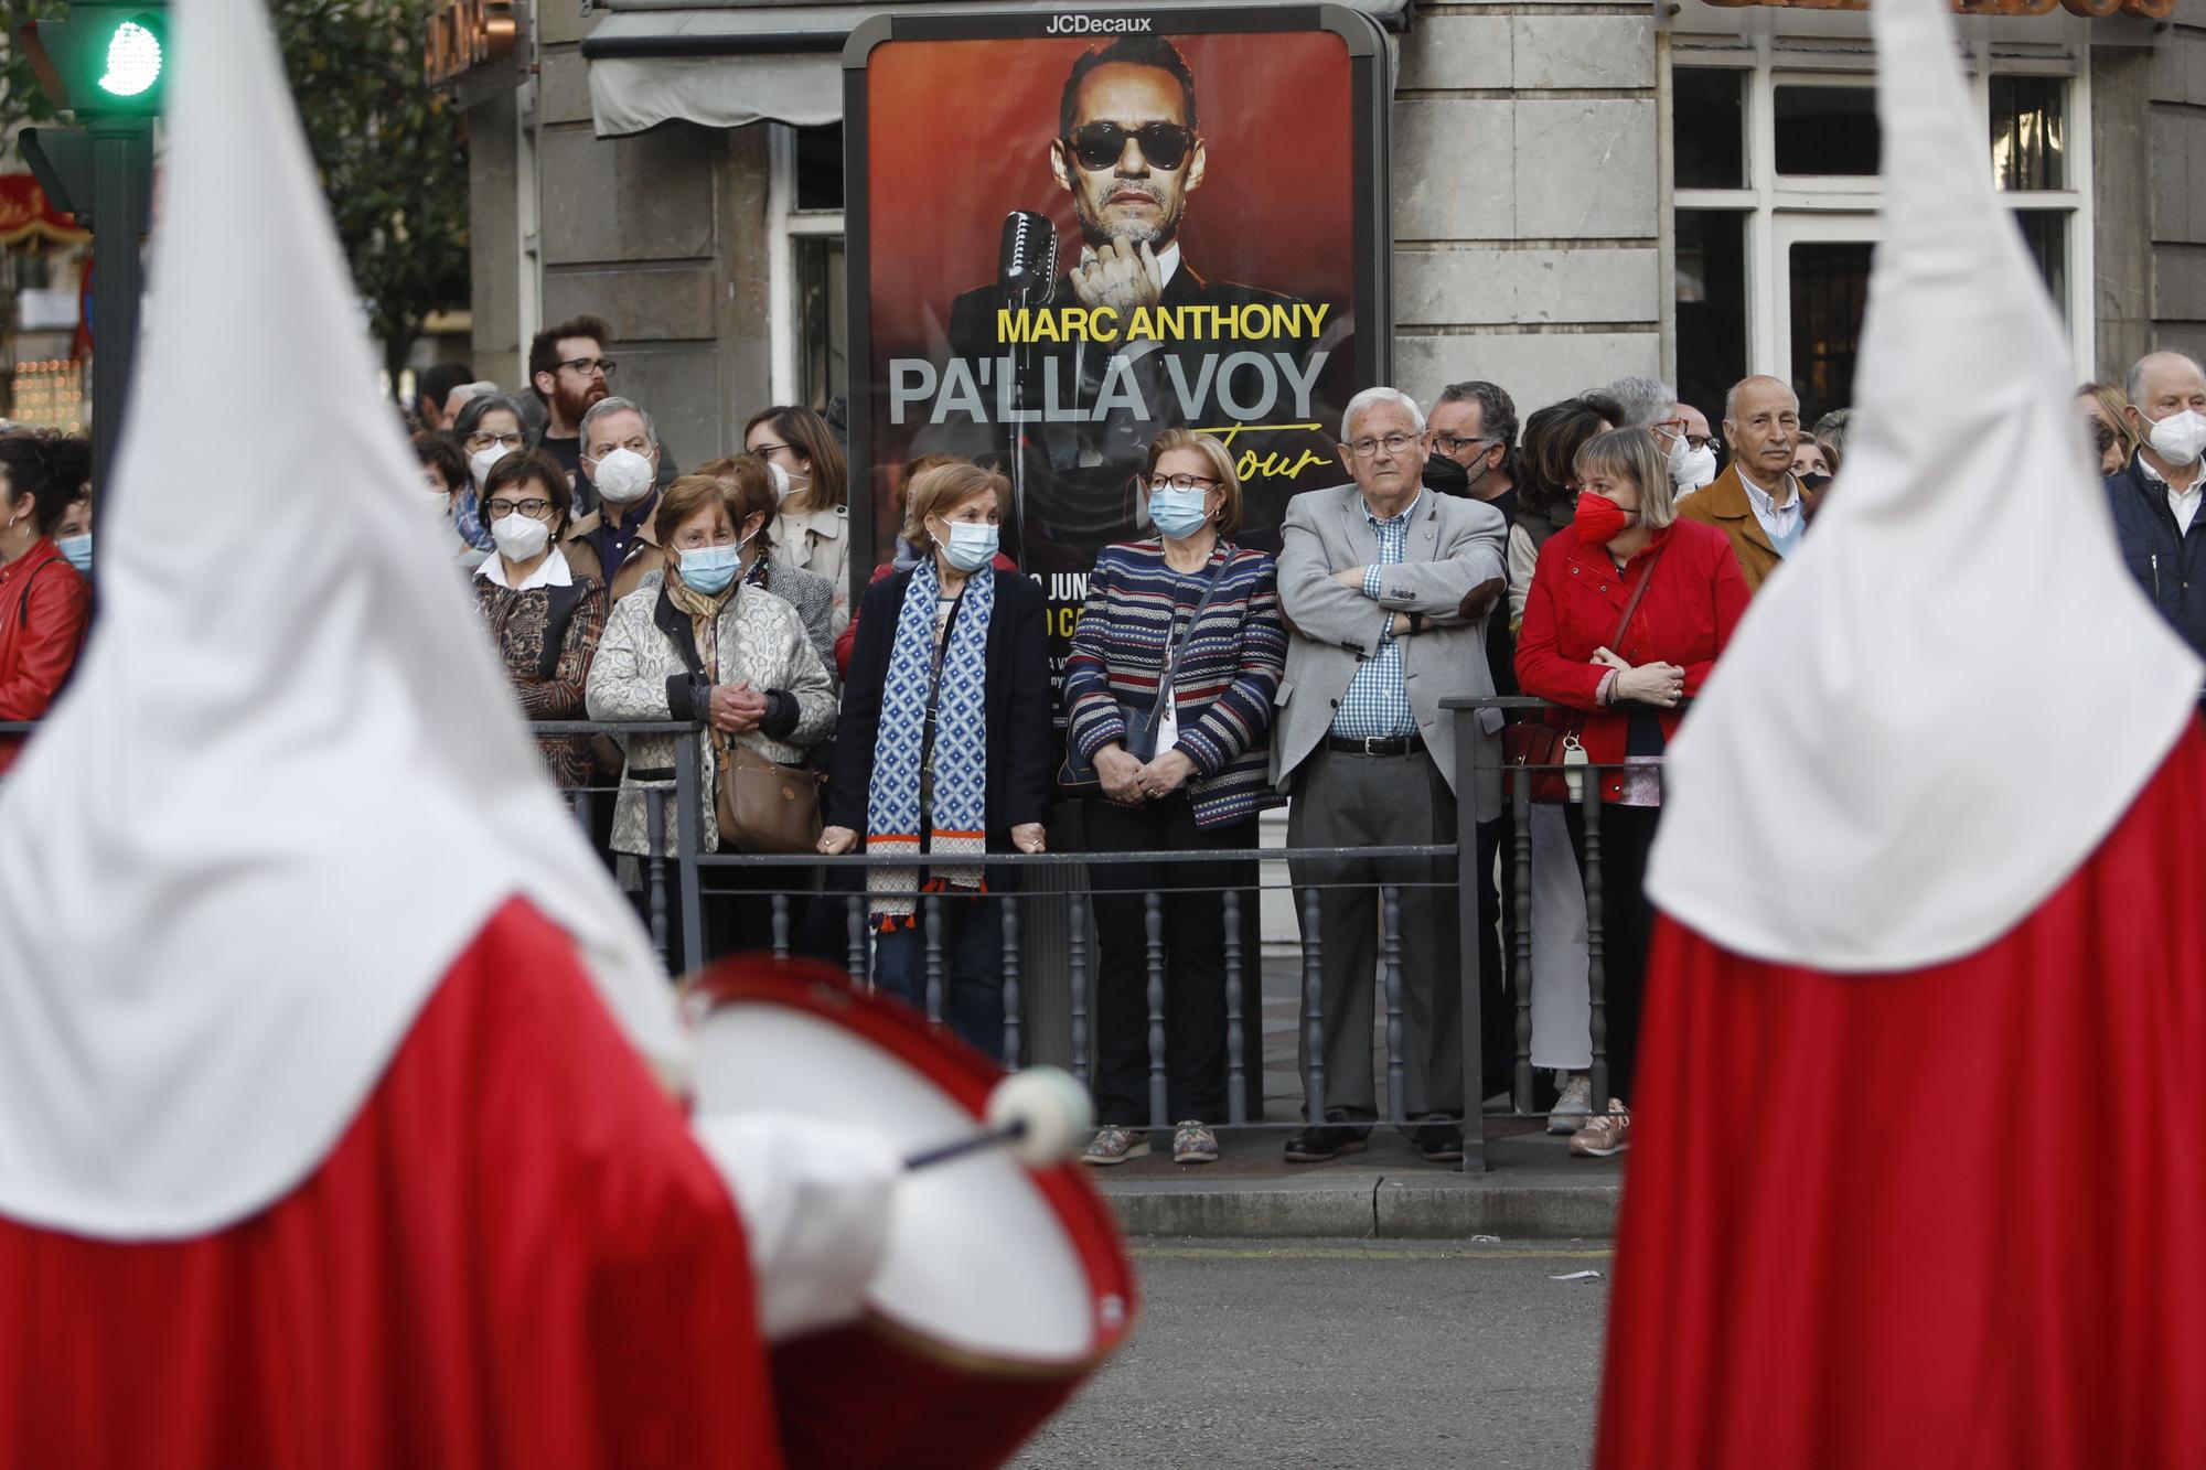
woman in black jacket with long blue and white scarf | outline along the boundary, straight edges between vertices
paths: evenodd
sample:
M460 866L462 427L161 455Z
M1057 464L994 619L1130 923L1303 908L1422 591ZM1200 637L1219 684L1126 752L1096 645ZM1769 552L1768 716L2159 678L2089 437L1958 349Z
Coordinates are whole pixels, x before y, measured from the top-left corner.
M911 481L918 561L860 605L821 834L827 854L863 837L871 856L924 859L867 870L874 984L927 1009L933 929L940 1018L990 1057L1004 1055L1004 916L982 894L1017 887L1017 870L986 856L1043 850L1057 761L1041 587L990 565L1008 494L966 461Z

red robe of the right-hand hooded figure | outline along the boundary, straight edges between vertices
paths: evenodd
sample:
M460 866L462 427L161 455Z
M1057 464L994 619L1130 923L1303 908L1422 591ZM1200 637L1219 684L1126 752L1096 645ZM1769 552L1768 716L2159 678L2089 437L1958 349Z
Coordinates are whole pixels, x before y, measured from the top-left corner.
M1661 920L1604 1470L2206 1459L2202 828L2193 724L1963 960L1831 976Z

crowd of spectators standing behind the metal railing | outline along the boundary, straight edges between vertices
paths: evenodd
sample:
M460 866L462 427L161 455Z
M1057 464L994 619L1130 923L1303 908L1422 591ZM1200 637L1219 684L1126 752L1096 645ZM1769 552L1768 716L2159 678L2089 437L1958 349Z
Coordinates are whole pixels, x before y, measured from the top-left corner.
M1043 598L999 550L1006 479L924 455L902 466L893 554L852 600L849 466L812 408L768 406L743 452L679 472L651 413L611 393L607 329L578 318L529 349L525 393L463 366L421 377L428 512L472 580L483 627L534 720L702 722L704 737L540 739L569 790L618 790L596 839L642 903L642 863L677 859L679 761L695 761L704 852L865 852L825 901L774 903L788 865L715 874L706 954L768 942L847 954L863 894L878 987L929 1002L977 1048L1004 1044L999 905L1043 852L1052 808L1081 808L1096 956L1099 1132L1085 1161L1149 1152L1152 965L1163 978L1171 1154L1218 1157L1227 1104L1227 951L1253 954L1257 872L1235 854L1288 808L1319 1026L1302 1031L1306 1123L1291 1161L1366 1146L1381 1119L1372 1029L1381 936L1401 976L1401 1090L1412 1143L1463 1154L1467 1106L1504 1108L1516 1062L1511 956L1529 881L1535 1106L1571 1150L1630 1146L1639 995L1652 912L1646 859L1661 757L1756 596L1811 536L1844 479L1849 415L1809 428L1780 380L1747 377L1721 415L1650 377L1518 417L1493 382L1447 386L1429 413L1372 386L1346 408L1335 490L1297 494L1277 556L1233 541L1242 483L1216 437L1167 430L1141 475L1149 534L1088 576L1052 693ZM2177 353L2078 413L2124 561L2206 653L2206 375ZM1871 426L1873 430L1873 426ZM68 678L93 605L84 439L0 433L0 720L38 720ZM1840 490L1842 494L1842 490ZM1482 711L1476 790L1456 790L1452 697L1549 702ZM0 770L20 737L0 737ZM1575 766L1584 770L1575 770ZM1529 874L1504 773L1533 779ZM768 810L752 777L816 797ZM1597 781L1599 892L1588 934L1582 781ZM1429 848L1471 828L1485 1097L1460 1055L1454 863L1343 856ZM794 825L790 825L794 823ZM1310 856L1299 856L1310 854ZM721 878L735 892L715 894ZM1222 894L1238 896L1229 934ZM1392 909L1381 923L1381 894ZM927 949L927 912L935 949ZM781 927L785 925L785 927ZM679 956L695 962L704 956ZM1599 962L1606 1095L1593 1095Z

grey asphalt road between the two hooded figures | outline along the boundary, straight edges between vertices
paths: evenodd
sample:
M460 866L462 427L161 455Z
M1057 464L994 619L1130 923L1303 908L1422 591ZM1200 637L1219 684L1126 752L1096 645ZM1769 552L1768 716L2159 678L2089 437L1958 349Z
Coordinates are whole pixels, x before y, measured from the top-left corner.
M1013 1461L1586 1466L1606 1240L1141 1243L1134 1342ZM1571 1271L1593 1282L1557 1282Z

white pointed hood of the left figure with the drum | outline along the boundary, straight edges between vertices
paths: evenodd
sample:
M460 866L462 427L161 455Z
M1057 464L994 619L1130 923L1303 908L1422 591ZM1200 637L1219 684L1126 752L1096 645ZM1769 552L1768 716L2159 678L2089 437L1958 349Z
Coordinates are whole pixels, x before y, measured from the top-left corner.
M322 1161L510 896L679 1068L375 391L258 0L179 0L101 616L0 788L0 1214L176 1238Z

